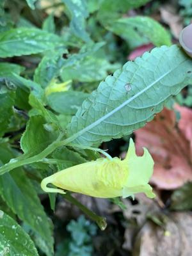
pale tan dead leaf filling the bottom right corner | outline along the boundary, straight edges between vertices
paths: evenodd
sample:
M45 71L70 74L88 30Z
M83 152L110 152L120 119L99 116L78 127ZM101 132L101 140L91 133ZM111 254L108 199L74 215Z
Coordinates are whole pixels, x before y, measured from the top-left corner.
M191 256L192 214L171 213L165 227L148 221L136 237L132 256Z

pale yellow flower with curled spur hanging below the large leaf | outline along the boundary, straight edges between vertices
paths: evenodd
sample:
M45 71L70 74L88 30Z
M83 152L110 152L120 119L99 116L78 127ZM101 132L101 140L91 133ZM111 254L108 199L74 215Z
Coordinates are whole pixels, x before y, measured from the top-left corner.
M100 198L134 196L145 193L154 198L152 188L148 184L152 176L154 161L148 150L144 148L141 157L136 155L134 142L130 140L129 150L124 160L100 158L83 164L72 166L42 180L42 189L50 193L65 194L62 189ZM48 188L47 184L58 188Z

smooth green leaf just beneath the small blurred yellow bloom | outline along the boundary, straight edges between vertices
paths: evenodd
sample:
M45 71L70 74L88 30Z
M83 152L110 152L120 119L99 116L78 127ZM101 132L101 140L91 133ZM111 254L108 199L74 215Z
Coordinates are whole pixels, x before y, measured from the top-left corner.
M88 93L83 92L56 92L47 97L47 103L60 114L74 115L87 97Z

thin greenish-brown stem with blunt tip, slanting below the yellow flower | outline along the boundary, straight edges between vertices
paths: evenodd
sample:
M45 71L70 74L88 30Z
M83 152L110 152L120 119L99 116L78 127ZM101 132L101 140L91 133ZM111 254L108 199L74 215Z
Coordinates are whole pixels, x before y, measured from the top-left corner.
M101 230L106 229L106 227L107 227L106 218L95 214L95 212L91 211L86 206L81 204L79 201L77 201L76 198L74 198L69 193L62 195L62 196L63 196L63 198L68 200L68 202L76 205L79 209L81 209L81 211L83 211L84 214L86 214L92 221L95 221Z

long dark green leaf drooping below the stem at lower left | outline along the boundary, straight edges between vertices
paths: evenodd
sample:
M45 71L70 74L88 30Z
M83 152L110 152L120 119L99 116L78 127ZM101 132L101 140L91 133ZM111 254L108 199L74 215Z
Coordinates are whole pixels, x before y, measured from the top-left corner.
M3 163L7 163L15 156L15 152L7 144L1 144L0 160ZM25 221L33 232L47 244L47 255L52 255L51 222L49 222L38 195L22 168L17 169L16 172L1 175L0 194L20 220Z

